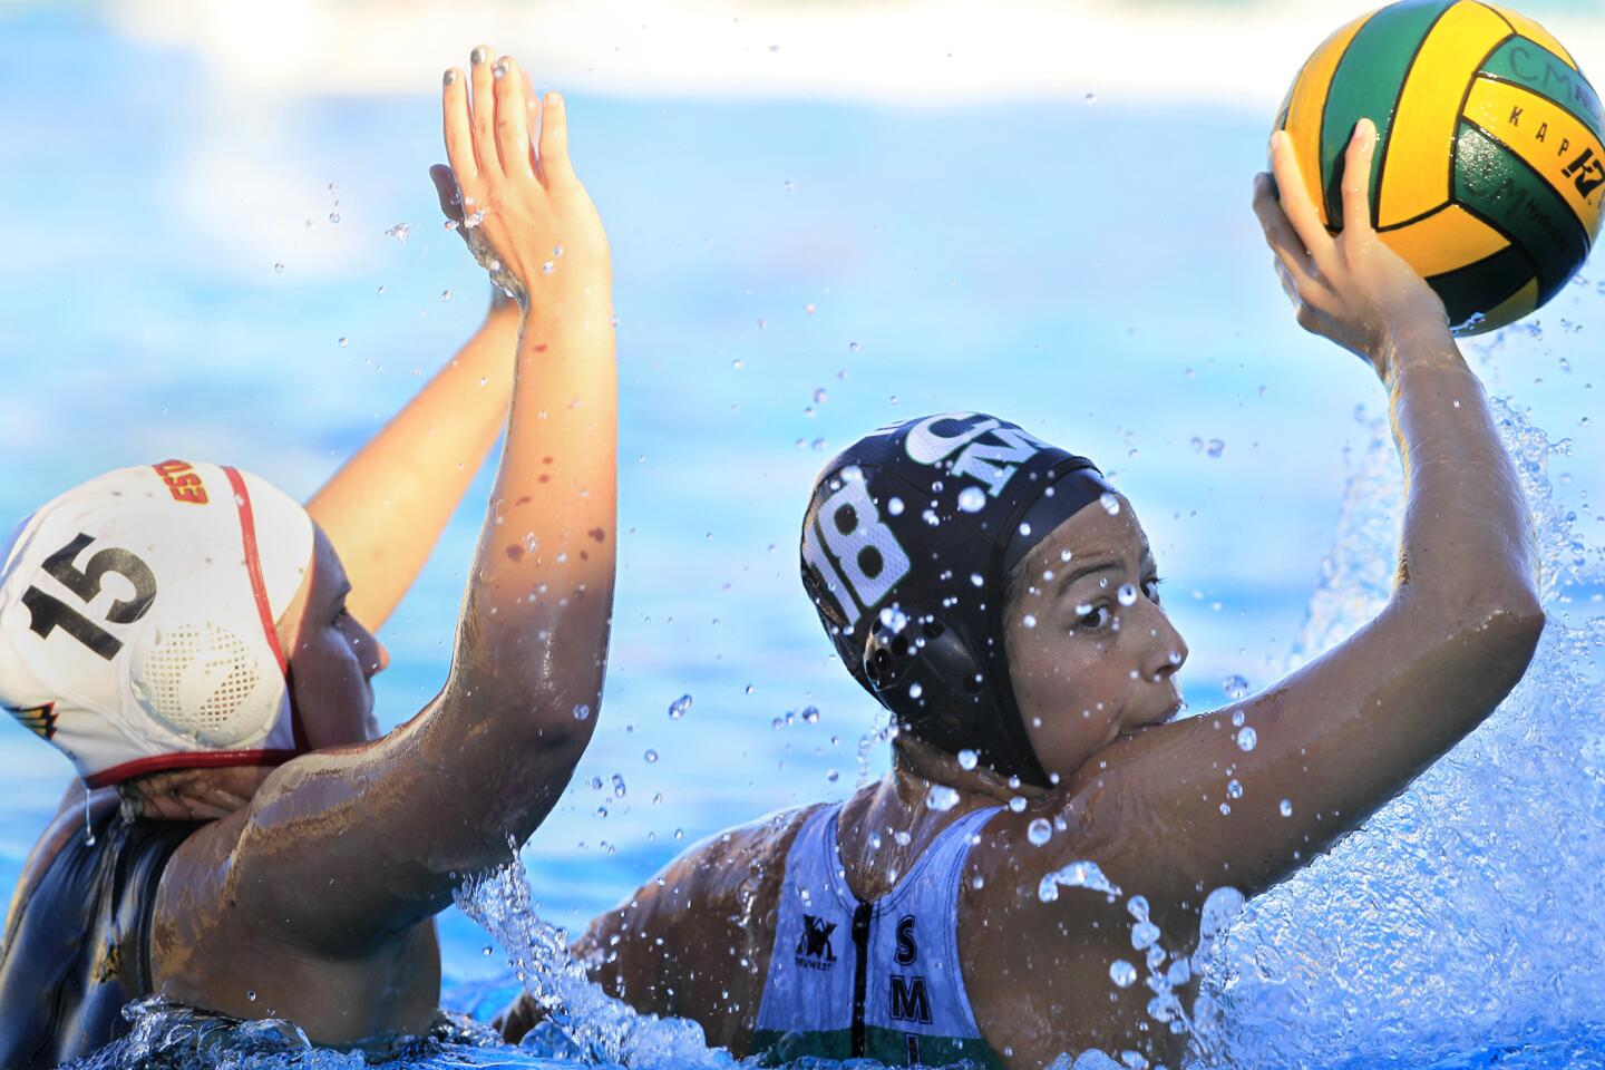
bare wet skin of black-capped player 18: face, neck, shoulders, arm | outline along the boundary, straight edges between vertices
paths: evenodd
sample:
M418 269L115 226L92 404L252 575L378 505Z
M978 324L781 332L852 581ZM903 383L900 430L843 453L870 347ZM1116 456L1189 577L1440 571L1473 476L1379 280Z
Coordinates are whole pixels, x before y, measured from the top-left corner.
M1348 220L1371 218L1374 144L1363 124L1345 168ZM976 1019L1011 1068L1087 1048L1168 1065L1184 1054L1184 1038L1148 1017L1141 982L1122 990L1109 980L1114 959L1140 963L1125 903L1077 889L1043 903L1043 876L1095 861L1127 895L1149 900L1162 945L1186 954L1209 890L1254 895L1358 826L1493 712L1542 632L1520 484L1441 302L1363 223L1326 233L1281 135L1273 162L1276 183L1257 180L1255 210L1300 324L1364 358L1390 395L1408 476L1398 582L1377 618L1323 658L1225 709L1168 720L1186 646L1149 584L1130 504L1122 499L1115 515L1082 510L1027 558L1005 640L1032 746L1058 783L1010 791L899 740L892 773L847 800L839 828L849 886L878 898L949 823L1027 797L1024 812L993 817L973 849L958 918ZM1287 191L1281 204L1276 186ZM1080 565L1109 568L1069 579ZM1120 605L1122 584L1136 589L1130 605ZM1237 744L1237 717L1257 732L1252 751ZM1225 815L1231 778L1242 797ZM926 805L936 783L958 791L957 807ZM576 950L608 990L645 1011L695 1017L711 1041L745 1054L785 855L806 813L690 849L597 918ZM1043 845L1027 836L1037 818L1058 828ZM507 1035L534 1015L530 1001L515 1003Z

